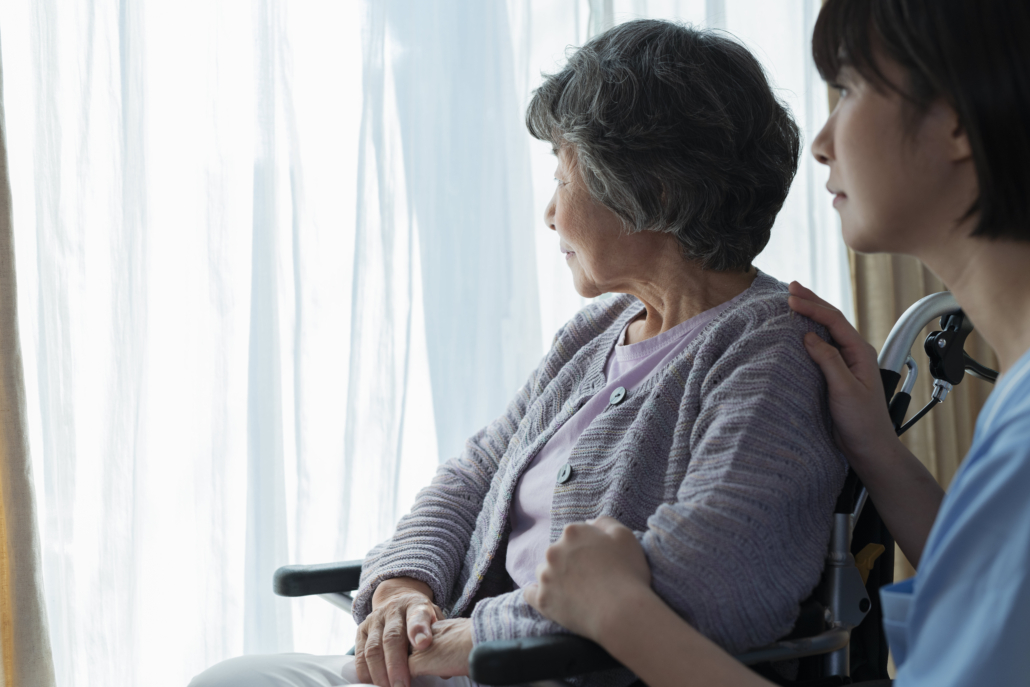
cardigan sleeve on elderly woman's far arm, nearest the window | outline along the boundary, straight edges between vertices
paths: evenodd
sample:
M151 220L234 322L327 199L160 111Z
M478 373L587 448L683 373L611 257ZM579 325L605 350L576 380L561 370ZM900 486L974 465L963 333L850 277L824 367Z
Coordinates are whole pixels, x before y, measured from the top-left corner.
M354 595L358 623L372 612L372 594L383 580L410 577L433 589L446 606L461 572L483 500L526 409L546 383L549 359L519 389L504 415L481 430L455 458L440 466L430 486L415 499L393 537L365 557L360 586Z

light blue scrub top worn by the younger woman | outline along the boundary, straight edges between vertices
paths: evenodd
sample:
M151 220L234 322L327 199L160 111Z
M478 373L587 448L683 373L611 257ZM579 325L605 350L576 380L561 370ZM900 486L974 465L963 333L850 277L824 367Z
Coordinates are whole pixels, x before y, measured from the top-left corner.
M1030 685L1030 351L999 380L916 577L884 587L895 687Z

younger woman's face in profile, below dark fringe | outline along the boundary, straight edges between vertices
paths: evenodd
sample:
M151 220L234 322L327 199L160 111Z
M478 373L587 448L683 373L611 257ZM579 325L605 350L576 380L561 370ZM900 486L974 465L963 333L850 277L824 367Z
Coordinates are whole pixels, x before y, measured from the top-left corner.
M905 83L900 66L880 66L892 83ZM899 94L878 91L849 67L837 80L840 101L812 151L830 168L826 185L845 242L862 252L919 254L975 199L968 174L956 166L972 163L961 160L964 133L955 111L936 103L906 130Z

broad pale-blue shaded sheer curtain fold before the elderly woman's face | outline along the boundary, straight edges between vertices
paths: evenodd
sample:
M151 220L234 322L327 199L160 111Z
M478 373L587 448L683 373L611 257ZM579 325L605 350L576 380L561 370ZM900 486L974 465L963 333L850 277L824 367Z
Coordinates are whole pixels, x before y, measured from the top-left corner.
M540 360L533 207L512 32L501 2L390 0L404 187L417 224L438 455L507 407ZM460 37L453 40L452 37ZM476 56L470 59L470 56ZM387 198L384 196L384 198ZM552 333L553 334L553 333Z

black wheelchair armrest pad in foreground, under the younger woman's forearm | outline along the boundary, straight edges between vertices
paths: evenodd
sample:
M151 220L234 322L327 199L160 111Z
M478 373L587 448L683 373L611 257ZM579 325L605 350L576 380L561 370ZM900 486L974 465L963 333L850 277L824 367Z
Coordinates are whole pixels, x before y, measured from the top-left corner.
M600 646L576 634L484 642L469 654L469 675L484 685L560 680L621 667Z

